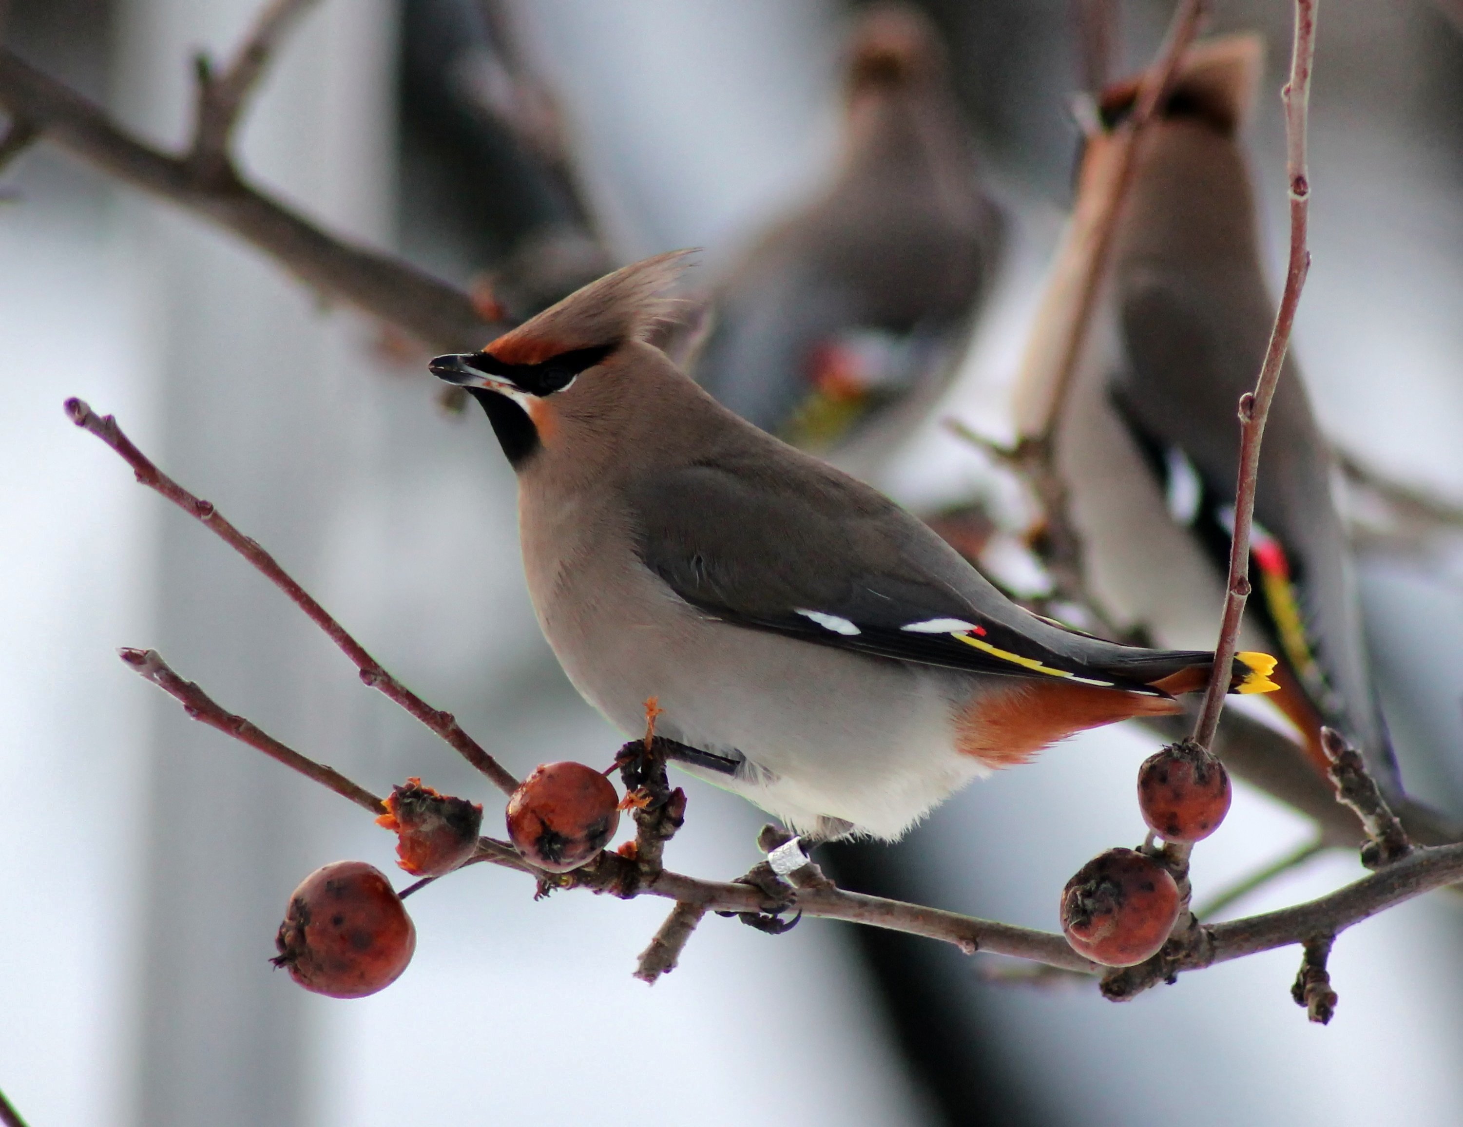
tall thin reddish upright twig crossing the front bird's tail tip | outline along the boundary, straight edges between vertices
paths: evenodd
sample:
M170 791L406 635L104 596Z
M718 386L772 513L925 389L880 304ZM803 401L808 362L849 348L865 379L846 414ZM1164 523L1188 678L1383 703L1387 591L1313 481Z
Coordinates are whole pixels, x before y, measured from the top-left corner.
M1306 117L1311 104L1311 63L1315 57L1317 0L1295 0L1295 48L1290 54L1290 80L1280 97L1286 117L1286 180L1290 187L1290 262L1285 291L1276 310L1274 328L1265 360L1252 392L1239 400L1239 480L1235 484L1235 528L1229 546L1229 581L1225 616L1214 645L1214 670L1204 692L1204 704L1194 724L1194 742L1207 748L1219 727L1219 713L1229 692L1229 678L1239 645L1239 625L1249 597L1249 531L1255 517L1255 487L1260 480L1260 443L1265 433L1270 401L1280 383L1280 372L1290 347L1290 328L1301 302L1305 275L1311 269L1306 224L1311 181L1306 171Z

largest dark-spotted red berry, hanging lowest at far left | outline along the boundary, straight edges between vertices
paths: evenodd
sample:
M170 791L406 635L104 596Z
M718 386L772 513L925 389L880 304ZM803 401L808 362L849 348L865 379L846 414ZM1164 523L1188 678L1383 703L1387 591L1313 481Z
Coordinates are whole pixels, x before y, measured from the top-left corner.
M411 962L417 929L386 875L364 861L336 861L290 896L275 935L275 966L309 991L364 998L385 989Z

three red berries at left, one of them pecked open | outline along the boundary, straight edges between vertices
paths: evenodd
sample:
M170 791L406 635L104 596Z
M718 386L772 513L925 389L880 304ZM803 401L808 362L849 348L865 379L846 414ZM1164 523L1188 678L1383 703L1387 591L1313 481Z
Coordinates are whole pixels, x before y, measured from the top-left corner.
M376 821L396 833L401 868L414 877L442 877L475 855L483 806L408 779L392 790ZM619 821L614 786L582 763L546 763L508 799L509 840L549 872L593 861ZM275 946L274 965L288 967L306 989L364 998L407 969L417 929L386 874L364 861L336 861L291 893Z

